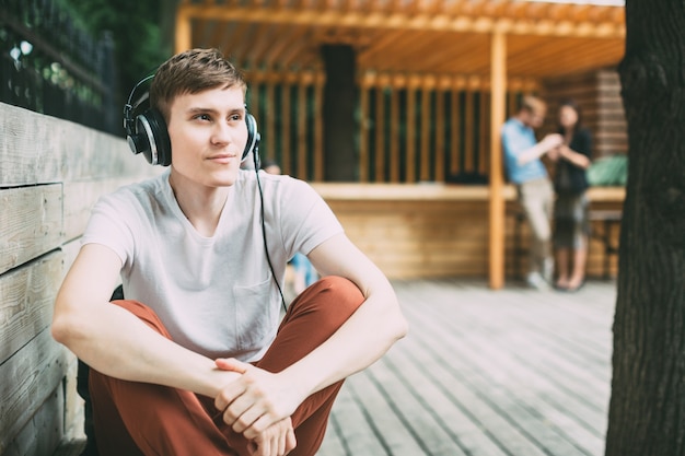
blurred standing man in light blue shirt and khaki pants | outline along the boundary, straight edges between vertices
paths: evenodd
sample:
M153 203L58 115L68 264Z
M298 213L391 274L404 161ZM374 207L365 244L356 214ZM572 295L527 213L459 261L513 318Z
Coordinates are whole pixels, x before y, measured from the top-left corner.
M554 270L549 221L554 189L541 157L561 145L560 135L547 135L542 141L534 129L545 119L547 106L534 96L523 97L519 112L501 130L504 165L509 180L516 186L519 202L531 226L531 258L526 282L537 290L549 288Z

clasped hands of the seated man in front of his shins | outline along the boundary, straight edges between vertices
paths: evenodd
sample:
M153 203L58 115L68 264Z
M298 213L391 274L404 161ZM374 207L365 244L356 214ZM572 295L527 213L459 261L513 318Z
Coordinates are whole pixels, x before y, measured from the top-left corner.
M217 367L241 374L214 398L223 421L249 441L252 456L285 456L297 445L290 416L301 400L278 377L234 359L219 359ZM297 397L297 396L295 396Z

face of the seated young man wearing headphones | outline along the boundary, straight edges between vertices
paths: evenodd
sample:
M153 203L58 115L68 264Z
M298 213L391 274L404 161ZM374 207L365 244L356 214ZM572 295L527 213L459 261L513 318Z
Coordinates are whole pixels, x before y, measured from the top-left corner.
M175 182L233 185L247 142L242 89L178 95L171 105L169 136Z

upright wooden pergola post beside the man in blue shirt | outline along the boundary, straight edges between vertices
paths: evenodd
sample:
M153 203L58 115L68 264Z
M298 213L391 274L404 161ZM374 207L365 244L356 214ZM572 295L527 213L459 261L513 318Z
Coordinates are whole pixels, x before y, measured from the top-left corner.
M490 207L489 283L492 290L504 285L504 198L502 196L502 142L507 95L507 35L496 30L490 44Z

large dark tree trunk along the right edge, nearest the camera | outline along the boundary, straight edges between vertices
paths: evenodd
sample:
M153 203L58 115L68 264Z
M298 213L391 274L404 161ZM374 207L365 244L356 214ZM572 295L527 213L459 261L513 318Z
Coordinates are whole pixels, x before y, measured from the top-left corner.
M627 0L628 184L606 456L685 455L685 1Z

